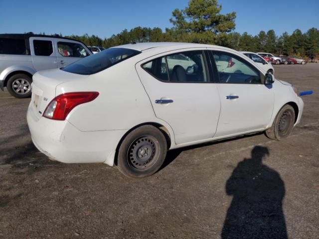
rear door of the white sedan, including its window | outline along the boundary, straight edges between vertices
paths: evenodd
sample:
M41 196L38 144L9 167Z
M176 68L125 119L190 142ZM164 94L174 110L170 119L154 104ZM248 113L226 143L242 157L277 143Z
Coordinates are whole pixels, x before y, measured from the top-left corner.
M136 70L156 116L173 129L176 144L213 137L220 99L216 84L210 82L204 51L157 56L138 63Z

